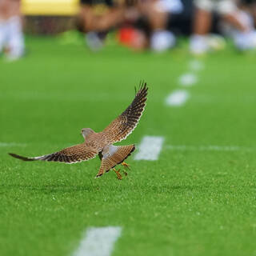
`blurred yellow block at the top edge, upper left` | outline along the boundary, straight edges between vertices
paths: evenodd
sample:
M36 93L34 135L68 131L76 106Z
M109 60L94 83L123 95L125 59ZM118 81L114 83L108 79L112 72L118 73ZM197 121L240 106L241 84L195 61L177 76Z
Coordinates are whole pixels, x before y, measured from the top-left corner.
M79 0L22 0L22 14L72 16L78 4Z

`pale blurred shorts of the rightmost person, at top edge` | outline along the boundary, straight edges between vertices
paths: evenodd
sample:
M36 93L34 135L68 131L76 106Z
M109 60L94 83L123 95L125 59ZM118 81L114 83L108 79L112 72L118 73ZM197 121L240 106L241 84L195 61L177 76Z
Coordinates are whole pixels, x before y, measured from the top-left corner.
M238 10L234 0L195 0L194 3L199 9L218 14L231 14Z

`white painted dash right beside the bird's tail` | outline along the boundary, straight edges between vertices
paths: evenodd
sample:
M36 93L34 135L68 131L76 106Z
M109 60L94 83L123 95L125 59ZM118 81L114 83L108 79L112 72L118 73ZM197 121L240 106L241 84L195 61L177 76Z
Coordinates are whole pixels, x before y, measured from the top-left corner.
M164 138L161 136L144 136L134 160L158 160L163 142Z

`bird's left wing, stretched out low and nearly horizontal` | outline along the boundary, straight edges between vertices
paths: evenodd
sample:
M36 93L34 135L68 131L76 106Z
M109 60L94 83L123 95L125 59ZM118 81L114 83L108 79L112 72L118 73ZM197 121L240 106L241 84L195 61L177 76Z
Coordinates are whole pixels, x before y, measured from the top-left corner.
M53 154L46 154L35 158L26 158L18 154L9 153L12 157L21 159L23 161L54 161L54 162L66 162L75 163L82 162L94 158L98 151L93 148L86 146L86 143L82 143L76 146L67 147L64 150L60 150Z

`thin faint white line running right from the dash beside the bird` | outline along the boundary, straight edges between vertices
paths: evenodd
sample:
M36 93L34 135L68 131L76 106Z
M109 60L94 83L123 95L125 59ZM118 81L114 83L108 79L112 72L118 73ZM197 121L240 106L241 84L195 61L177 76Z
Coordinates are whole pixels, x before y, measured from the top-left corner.
M166 145L165 150L189 150L189 151L251 151L250 147L244 146L186 146L186 145Z

